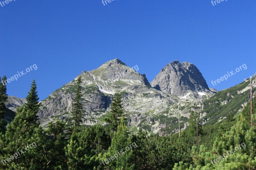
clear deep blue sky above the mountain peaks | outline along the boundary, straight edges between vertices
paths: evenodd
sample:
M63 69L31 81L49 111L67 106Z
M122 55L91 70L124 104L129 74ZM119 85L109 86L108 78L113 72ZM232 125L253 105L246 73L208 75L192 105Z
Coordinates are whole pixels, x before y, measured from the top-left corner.
M3 0L0 0L3 1ZM256 1L228 0L16 0L0 6L0 76L36 64L37 70L7 84L24 98L36 79L40 100L83 70L119 58L139 66L149 82L168 63L194 63L209 87L222 90L256 72Z

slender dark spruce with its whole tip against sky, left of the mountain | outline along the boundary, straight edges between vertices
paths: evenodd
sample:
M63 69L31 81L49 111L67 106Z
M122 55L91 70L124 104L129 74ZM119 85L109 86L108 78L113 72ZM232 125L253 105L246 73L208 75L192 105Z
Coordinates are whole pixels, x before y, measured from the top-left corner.
M26 110L28 111L28 113L31 114L30 120L28 120L28 121L32 125L35 125L38 120L38 116L36 114L37 114L38 108L39 108L39 104L38 104L39 98L38 98L37 91L36 91L36 80L35 79L32 81L31 89L30 89L30 92L28 92L28 96L26 97L26 100L27 100Z

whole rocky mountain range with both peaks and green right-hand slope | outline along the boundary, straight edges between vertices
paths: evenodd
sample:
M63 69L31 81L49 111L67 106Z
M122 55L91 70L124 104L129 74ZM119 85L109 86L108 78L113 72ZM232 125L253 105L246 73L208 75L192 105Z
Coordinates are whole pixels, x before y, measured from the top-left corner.
M172 121L172 133L175 133L179 124L178 110L181 129L188 127L191 112L198 112L199 122L206 125L219 123L225 119L228 111L235 116L239 115L248 101L248 79L218 92L210 89L196 66L188 62L179 63L176 60L169 63L151 83L145 74L135 70L119 59L114 59L95 70L83 71L67 85L39 102L38 116L41 125L45 126L56 118L66 120L70 116L79 76L82 77L84 124L105 124L103 119L109 115L113 94L120 90L124 96L123 105L128 127L133 132L141 128L158 133L165 127L166 120L167 127ZM255 85L254 77L253 86ZM8 97L6 119L9 122L13 119L16 108L24 103L25 99ZM170 132L170 128L167 128L167 133Z

